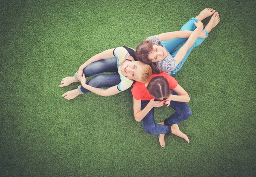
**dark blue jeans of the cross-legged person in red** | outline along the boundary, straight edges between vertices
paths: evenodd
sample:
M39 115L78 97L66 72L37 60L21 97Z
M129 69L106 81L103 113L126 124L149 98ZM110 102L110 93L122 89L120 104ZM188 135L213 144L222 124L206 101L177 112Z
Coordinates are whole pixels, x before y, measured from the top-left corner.
M173 95L178 95L177 92L172 90ZM143 110L150 100L141 101L141 110ZM141 120L145 131L151 135L170 134L172 132L171 126L185 121L191 115L190 107L185 102L171 101L170 106L176 112L164 120L164 125L156 124L154 120L154 107L148 114Z

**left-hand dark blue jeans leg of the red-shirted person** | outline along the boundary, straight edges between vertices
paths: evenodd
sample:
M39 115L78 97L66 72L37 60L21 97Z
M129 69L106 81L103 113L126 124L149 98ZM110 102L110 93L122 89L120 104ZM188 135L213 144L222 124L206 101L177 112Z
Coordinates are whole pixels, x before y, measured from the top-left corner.
M141 110L143 110L149 101L141 101ZM162 124L156 124L154 120L154 108L141 120L145 131L151 135L170 134L171 127Z

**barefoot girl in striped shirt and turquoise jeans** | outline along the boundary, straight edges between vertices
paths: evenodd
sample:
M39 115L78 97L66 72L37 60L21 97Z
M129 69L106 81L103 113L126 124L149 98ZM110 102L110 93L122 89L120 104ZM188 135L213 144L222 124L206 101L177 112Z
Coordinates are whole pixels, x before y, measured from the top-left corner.
M201 20L211 15L211 20L204 28ZM180 31L148 37L137 46L136 58L150 65L153 73L163 71L172 76L183 66L192 49L208 37L208 33L219 21L218 12L212 8L205 8L198 16L186 22ZM180 45L181 43L183 44ZM179 45L180 47L177 48Z

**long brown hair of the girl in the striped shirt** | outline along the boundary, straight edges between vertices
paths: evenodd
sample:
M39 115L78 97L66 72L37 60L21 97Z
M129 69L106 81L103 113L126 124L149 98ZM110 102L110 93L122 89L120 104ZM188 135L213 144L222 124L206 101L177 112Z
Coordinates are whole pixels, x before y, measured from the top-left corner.
M156 44L152 41L141 42L136 47L135 57L138 61L150 65L153 73L159 74L162 71L157 69L156 63L153 63L151 60L148 59L148 54L154 51L153 45L156 45Z

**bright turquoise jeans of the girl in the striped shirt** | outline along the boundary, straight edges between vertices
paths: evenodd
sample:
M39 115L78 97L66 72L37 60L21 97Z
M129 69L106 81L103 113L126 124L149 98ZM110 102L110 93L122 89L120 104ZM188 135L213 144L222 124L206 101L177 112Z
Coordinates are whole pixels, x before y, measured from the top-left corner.
M198 22L198 20L196 18L191 18L188 22L186 22L185 25L183 25L180 28L180 31L184 31L184 30L194 31L195 27L196 27L194 22ZM206 32L206 36L208 37L208 31L206 31L206 30L204 30L204 31ZM184 62L188 58L192 49L195 48L196 46L200 45L204 41L204 39L206 39L206 38L197 38L195 40L195 43L192 45L191 48L189 48L189 50L187 51L186 55L181 60L181 62L177 65L177 67L175 67L174 70L172 70L172 72L170 73L171 76L174 75L175 73L177 73L180 70L180 68L183 66ZM172 40L161 41L161 43L165 46L165 48L172 55L172 57L175 58L177 52L185 44L186 41L187 41L187 38L175 38L175 39L172 39ZM182 44L182 42L183 42L183 44ZM180 45L180 44L182 44L182 45ZM177 48L179 45L180 45L180 47ZM177 48L177 50L174 51L175 48Z

